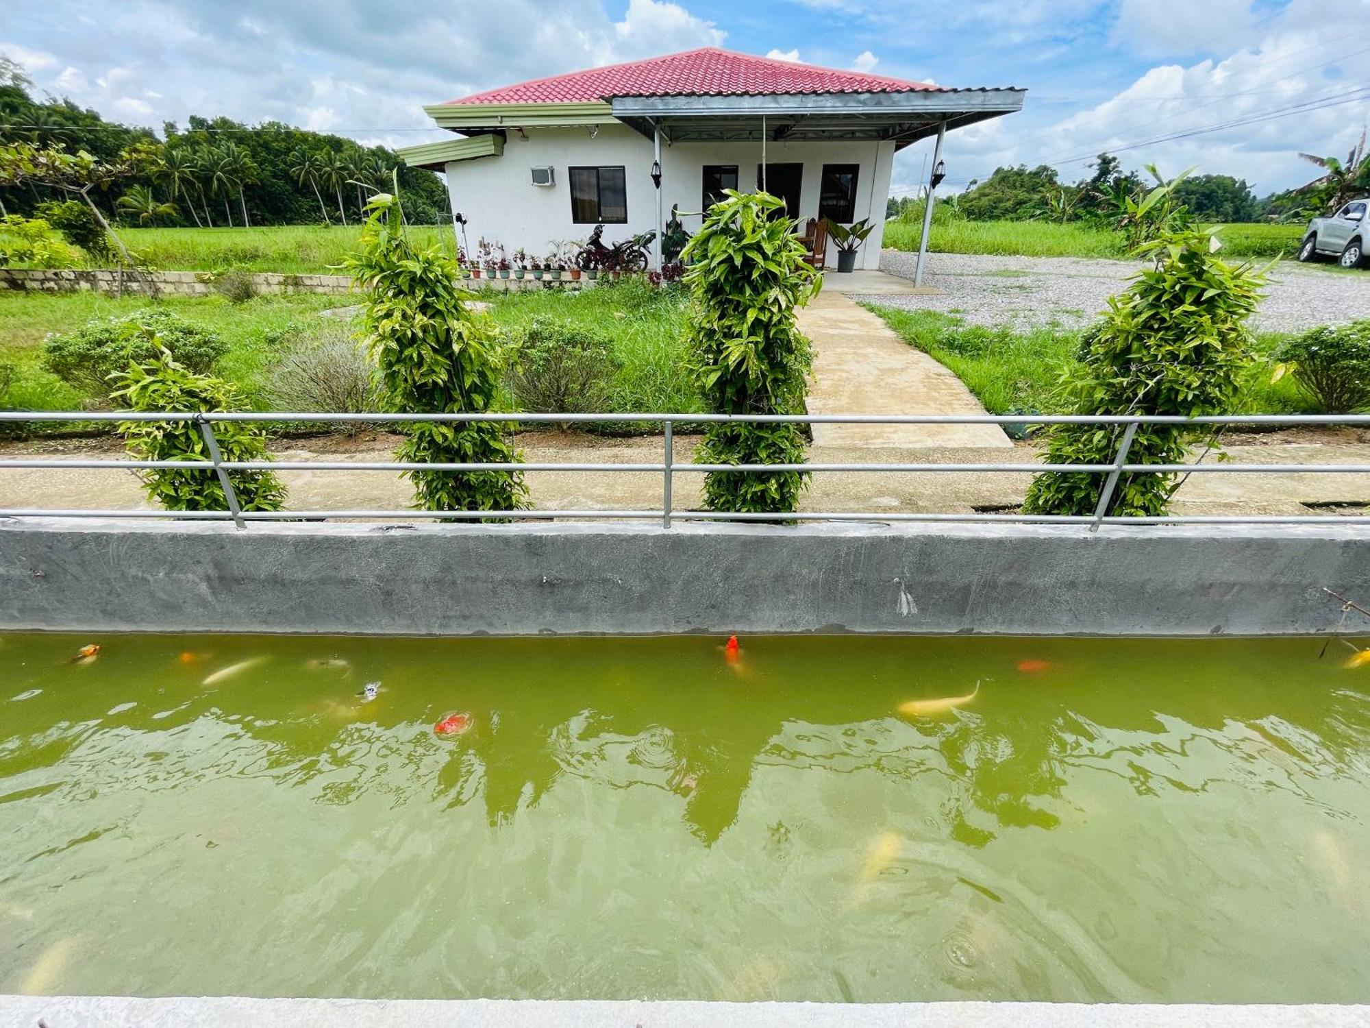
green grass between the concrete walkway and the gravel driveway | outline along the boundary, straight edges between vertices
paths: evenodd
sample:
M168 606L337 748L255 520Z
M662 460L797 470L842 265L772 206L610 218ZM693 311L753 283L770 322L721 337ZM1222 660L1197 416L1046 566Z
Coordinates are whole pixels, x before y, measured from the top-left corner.
M866 304L912 347L940 360L991 414L1067 414L1060 384L1075 367L1080 333L1060 329L989 329L941 311L900 311ZM1317 407L1292 376L1271 385L1265 355L1284 336L1256 339L1258 359L1247 376L1238 410L1249 414L1314 414Z

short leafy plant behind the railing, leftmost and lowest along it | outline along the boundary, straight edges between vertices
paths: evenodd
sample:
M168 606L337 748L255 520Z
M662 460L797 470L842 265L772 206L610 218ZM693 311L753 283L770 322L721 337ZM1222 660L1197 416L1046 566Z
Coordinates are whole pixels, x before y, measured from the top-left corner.
M156 345L156 334L147 332ZM130 363L115 377L111 399L134 411L232 411L242 397L221 378L197 374L177 363L171 352L142 363ZM137 461L208 461L210 450L190 421L126 421L119 424L129 455ZM266 461L266 433L248 422L218 422L214 435L225 461ZM148 498L167 510L227 510L227 499L215 472L155 467L136 473ZM229 472L229 481L242 510L281 510L285 485L273 472Z

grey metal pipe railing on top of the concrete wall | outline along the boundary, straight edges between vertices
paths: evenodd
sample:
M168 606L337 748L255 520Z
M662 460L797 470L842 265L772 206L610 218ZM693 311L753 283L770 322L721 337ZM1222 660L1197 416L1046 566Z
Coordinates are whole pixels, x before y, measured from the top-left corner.
M1085 525L1097 530L1101 525L1156 525L1156 524L1328 524L1328 515L1306 514L1175 514L1164 517L1125 517L1107 514L1123 474L1292 474L1332 473L1370 474L1365 465L1308 465L1308 463L1128 463L1128 455L1141 425L1188 426L1252 426L1293 428L1307 425L1362 425L1370 426L1370 414L1230 414L1197 418L1169 415L1082 415L1082 414L141 414L132 411L0 411L0 422L119 422L119 421L190 421L204 437L208 461L132 461L132 459L60 459L60 458L5 458L5 469L204 469L212 470L227 498L222 511L166 511L166 510L95 510L95 509L3 509L4 518L71 517L71 518L195 518L206 521L233 521L238 529L249 521L322 521L338 519L637 519L660 521L670 528L673 521L978 521ZM659 424L663 428L660 462L653 463L585 463L585 462L526 462L526 463L415 463L401 461L225 461L214 433L221 422L282 422L282 424L414 424L414 422L518 422L518 424ZM721 422L738 424L796 424L796 425L1122 425L1123 432L1108 463L1058 465L1041 462L1004 463L680 463L671 451L675 428ZM659 510L242 510L229 472L653 472L662 476L662 507ZM734 514L707 510L674 510L673 484L678 474L708 472L769 473L769 472L880 472L880 473L1037 473L1075 472L1104 476L1099 502L1093 514L1015 514L1015 513L867 513L867 511L799 511L792 514ZM1370 515L1337 515L1337 524L1370 524Z

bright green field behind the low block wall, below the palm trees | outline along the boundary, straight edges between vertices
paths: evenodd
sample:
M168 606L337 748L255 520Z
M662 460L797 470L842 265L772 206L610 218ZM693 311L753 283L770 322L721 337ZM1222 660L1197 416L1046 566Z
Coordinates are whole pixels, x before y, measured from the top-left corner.
M273 225L260 229L119 229L119 238L151 267L162 271L248 271L342 274L337 266L356 249L360 226ZM452 230L415 225L411 236L425 244L452 247Z

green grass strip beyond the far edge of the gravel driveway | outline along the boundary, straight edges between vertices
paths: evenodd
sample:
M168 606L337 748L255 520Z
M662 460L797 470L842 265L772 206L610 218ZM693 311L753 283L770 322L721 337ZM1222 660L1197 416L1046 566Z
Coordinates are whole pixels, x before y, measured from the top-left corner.
M892 219L885 225L885 245L917 251L921 222ZM1223 255L1236 259L1292 256L1303 238L1302 225L1225 225L1218 233ZM1040 221L964 221L933 223L929 248L938 254L993 254L997 256L1128 256L1123 238L1108 229Z

